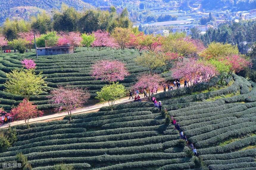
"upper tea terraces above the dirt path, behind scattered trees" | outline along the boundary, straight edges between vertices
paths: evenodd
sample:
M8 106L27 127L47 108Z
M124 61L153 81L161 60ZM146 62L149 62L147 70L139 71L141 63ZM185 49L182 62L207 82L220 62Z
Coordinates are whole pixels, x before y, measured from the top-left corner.
M58 85L66 86L71 85L74 87L87 88L90 92L91 98L96 96L96 91L99 91L107 82L101 80L95 80L95 77L91 76L91 65L99 60L119 60L125 63L126 68L129 71L129 76L123 81L120 81L125 87L130 88L137 81L136 77L139 73L149 72L147 68L138 66L134 58L140 55L136 50L110 50L103 51L98 50L86 50L81 48L73 54L55 55L55 56L40 56L36 58L34 53L18 54L7 53L0 54L0 107L3 107L6 111L10 110L13 105L18 105L23 99L22 96L13 95L11 93L4 92L4 82L6 82L6 73L13 69L21 69L21 60L24 58L32 58L35 60L36 73L43 73L43 76L47 77L49 90L38 96L31 96L30 101L33 101L38 105L39 109L50 109L54 105L49 104L49 91L53 88L57 88ZM154 72L161 73L160 70ZM169 73L162 74L162 77L170 77Z

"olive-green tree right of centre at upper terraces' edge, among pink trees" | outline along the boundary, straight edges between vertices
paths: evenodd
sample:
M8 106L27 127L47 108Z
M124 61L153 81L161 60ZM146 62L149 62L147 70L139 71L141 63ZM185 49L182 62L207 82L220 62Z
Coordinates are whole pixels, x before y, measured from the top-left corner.
M165 57L160 54L156 54L154 52L144 52L142 55L135 58L135 62L138 65L146 67L149 69L150 74L154 69L165 65Z

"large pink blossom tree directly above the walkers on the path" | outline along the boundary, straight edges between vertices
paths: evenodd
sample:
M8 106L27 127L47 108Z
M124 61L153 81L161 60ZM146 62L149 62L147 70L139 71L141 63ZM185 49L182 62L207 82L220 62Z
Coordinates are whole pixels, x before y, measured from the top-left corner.
M188 82L190 94L192 94L194 87L203 80L203 77L207 77L210 74L212 74L211 67L196 61L194 58L177 62L176 67L172 69L173 78L182 78Z

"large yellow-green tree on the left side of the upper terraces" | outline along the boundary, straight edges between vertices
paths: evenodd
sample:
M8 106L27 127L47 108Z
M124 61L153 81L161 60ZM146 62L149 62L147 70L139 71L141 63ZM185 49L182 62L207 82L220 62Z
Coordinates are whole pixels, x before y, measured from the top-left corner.
M4 83L5 91L17 95L21 95L29 100L31 95L39 95L46 90L46 79L39 73L38 75L32 69L29 70L13 70L6 74L8 78Z

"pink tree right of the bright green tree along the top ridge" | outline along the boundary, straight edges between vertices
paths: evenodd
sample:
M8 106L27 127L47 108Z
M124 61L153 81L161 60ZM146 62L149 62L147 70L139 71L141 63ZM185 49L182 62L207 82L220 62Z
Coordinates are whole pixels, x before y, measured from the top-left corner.
M110 34L107 31L97 30L92 34L95 36L95 41L93 42L92 47L95 47L97 50L103 50L107 47L117 47L117 44L110 38Z

